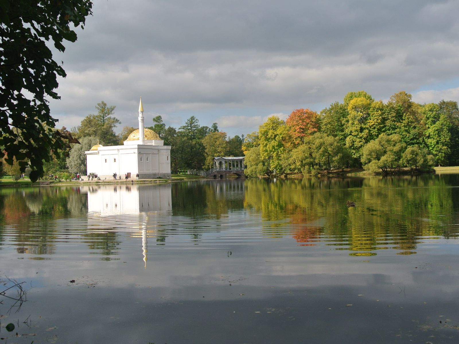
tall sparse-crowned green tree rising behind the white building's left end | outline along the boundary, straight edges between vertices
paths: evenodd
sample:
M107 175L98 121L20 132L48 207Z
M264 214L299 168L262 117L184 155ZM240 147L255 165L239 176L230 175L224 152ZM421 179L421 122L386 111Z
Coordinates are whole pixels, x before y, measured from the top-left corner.
M103 100L97 103L95 106L97 114L84 117L78 126L78 138L95 136L100 140L101 144L117 144L119 138L114 128L121 122L118 118L112 116L115 112L115 107L115 105L107 106L107 103Z

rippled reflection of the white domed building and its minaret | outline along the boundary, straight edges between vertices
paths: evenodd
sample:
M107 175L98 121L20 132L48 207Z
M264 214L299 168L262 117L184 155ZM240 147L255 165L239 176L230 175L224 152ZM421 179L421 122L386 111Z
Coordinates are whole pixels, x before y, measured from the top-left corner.
M132 232L142 238L147 261L148 238L157 236L158 219L170 222L171 184L89 186L88 229L95 232Z

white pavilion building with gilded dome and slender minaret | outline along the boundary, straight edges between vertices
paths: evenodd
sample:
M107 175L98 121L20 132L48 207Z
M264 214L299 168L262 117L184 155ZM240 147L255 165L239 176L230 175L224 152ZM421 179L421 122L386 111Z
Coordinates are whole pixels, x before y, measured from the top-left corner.
M96 144L84 152L87 172L96 173L101 179L113 179L113 173L121 179L127 174L134 179L171 178L171 146L165 146L153 130L144 128L142 97L139 104L139 129L130 133L123 145L102 146Z

